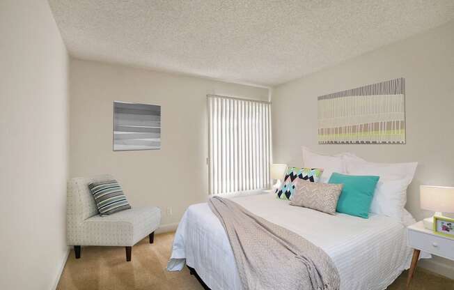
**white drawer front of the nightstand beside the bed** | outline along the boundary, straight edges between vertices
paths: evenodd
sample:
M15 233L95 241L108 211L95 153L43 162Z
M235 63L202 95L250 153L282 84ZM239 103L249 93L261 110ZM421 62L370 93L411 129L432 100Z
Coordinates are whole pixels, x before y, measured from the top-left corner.
M454 241L434 234L409 231L409 246L437 256L454 259Z

